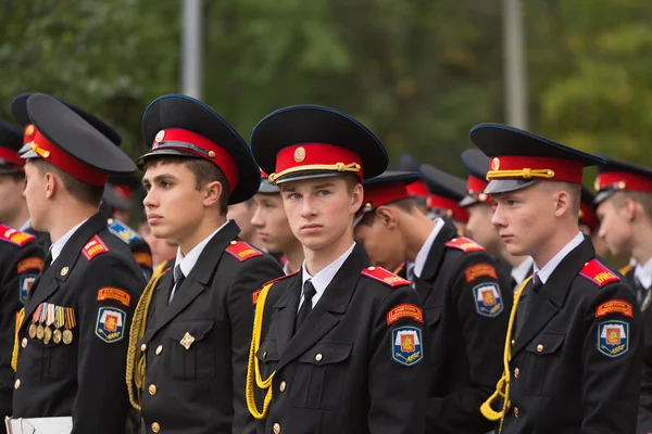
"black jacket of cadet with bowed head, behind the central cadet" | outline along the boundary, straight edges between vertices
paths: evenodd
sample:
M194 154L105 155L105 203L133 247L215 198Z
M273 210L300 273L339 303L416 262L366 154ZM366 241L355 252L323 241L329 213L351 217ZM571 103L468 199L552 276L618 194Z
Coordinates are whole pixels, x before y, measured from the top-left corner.
M426 433L478 433L492 427L480 405L502 372L512 289L493 256L441 228L415 288L430 337Z

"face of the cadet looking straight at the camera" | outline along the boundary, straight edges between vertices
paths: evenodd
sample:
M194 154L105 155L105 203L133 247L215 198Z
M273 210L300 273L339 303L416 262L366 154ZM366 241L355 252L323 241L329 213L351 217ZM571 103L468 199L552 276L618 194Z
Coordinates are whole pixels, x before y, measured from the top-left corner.
M319 251L347 233L352 238L353 215L362 204L361 184L349 192L347 181L335 176L285 182L280 192L292 233L304 247Z

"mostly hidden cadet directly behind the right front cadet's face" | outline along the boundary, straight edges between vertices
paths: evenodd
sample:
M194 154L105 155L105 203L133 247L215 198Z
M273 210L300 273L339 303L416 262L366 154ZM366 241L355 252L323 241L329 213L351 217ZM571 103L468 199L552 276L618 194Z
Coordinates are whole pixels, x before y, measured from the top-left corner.
M468 237L480 244L496 257L499 267L510 276L510 286L516 291L521 283L532 273L532 258L530 256L513 256L507 252L507 246L502 241L498 231L491 225L491 194L485 194L487 187L487 171L489 158L478 149L466 150L462 153L462 162L468 170L466 181L466 197L460 205L468 210L466 230Z

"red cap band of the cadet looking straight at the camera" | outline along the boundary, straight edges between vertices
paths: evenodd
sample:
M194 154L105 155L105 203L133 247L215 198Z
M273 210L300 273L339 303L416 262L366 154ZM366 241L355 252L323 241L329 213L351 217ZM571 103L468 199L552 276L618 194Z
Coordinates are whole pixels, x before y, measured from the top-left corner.
M355 152L335 144L301 143L278 152L275 173L269 175L269 181L302 170L350 171L363 180L362 158Z

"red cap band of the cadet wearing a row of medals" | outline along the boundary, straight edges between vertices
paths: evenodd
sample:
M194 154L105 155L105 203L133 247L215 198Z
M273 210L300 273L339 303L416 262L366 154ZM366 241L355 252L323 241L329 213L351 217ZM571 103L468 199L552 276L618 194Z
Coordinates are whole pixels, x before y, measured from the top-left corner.
M109 180L109 174L84 164L52 143L38 129L34 129L32 150L48 163L91 186L103 186Z

